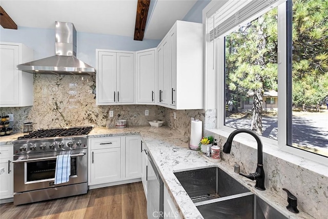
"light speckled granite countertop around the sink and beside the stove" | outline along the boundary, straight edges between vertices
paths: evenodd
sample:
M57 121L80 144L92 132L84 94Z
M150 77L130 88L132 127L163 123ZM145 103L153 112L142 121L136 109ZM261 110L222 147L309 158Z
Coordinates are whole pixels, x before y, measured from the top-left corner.
M290 216L290 218L312 218L310 215L302 211L297 215L289 212L286 209L286 205L288 204L286 198L283 199L269 190L259 191L255 189L254 181L248 180L247 178L234 173L233 167L226 162L222 161L220 163L213 163L199 155L197 151L190 150L188 148L188 138L169 127L162 126L155 128L150 126L135 126L122 129L95 127L89 133L88 137L110 137L135 134L140 134L142 136L148 147L148 151L154 160L155 166L161 175L163 183L168 188L169 194L172 197L179 214L183 218L203 217L173 173L176 171L210 166L218 166L226 171L228 174L236 178L237 181L260 196L263 200L269 202L285 215ZM22 135L23 133L4 136L0 138L0 145L12 144L12 141Z

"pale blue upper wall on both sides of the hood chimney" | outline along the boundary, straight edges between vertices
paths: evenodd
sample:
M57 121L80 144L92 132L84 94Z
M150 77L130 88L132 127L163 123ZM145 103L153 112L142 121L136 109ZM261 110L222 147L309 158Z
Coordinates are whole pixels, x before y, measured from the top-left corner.
M55 29L18 27L12 30L1 27L0 41L25 44L34 50L35 59L55 55ZM155 39L134 41L128 36L77 32L76 57L95 67L96 49L137 51L157 47L159 42Z

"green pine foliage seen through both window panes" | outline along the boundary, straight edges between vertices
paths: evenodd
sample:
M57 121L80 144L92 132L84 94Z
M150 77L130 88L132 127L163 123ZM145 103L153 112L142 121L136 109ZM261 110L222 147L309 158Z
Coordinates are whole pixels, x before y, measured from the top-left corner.
M272 9L226 36L227 99L277 91L277 17ZM328 0L293 0L292 34L293 104L316 105L328 95Z

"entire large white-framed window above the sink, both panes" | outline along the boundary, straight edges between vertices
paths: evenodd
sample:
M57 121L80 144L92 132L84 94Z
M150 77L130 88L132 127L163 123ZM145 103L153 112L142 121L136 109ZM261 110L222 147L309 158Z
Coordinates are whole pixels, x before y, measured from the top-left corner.
M216 59L223 88L218 128L248 128L279 149L326 163L328 2L232 2L209 16L207 26L214 50L208 59Z

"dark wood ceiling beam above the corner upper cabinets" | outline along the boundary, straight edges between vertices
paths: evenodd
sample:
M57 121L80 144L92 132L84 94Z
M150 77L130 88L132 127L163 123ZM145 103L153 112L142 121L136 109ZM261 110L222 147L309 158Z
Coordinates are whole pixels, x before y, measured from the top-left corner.
M151 0L138 0L134 29L135 41L142 41L142 39L144 39L150 1Z

